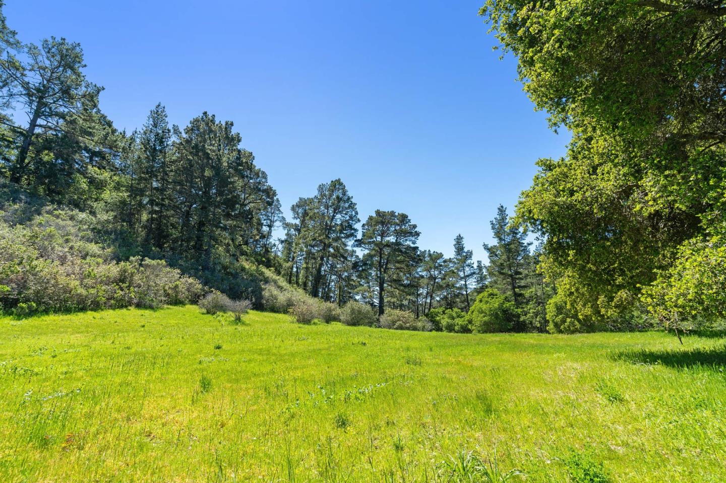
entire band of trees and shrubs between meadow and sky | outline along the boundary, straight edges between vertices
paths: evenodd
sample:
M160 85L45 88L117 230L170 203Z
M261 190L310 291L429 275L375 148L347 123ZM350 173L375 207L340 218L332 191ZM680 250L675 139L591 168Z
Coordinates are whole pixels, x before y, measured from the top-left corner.
M539 161L515 217L498 208L486 264L461 235L452 257L418 247L405 213L362 219L340 179L298 199L285 220L232 122L203 112L170 125L158 104L141 128L118 131L99 108L102 88L83 73L81 46L64 38L21 44L1 17L0 229L16 241L4 241L0 302L17 312L156 306L216 289L298 321L394 329L575 332L720 321L722 8L486 2L481 15L518 56L531 99L573 133L565 158ZM69 220L81 218L85 231L71 230L78 222ZM49 249L54 243L73 249ZM133 276L108 275L120 271ZM168 287L150 291L152 273ZM53 292L44 278L65 288ZM178 293L185 284L189 296ZM65 302L54 304L50 293Z

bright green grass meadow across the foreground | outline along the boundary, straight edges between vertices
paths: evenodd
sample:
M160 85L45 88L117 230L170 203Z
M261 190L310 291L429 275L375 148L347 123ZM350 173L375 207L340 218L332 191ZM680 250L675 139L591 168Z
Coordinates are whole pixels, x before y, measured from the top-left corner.
M725 340L684 342L0 318L0 482L723 482Z

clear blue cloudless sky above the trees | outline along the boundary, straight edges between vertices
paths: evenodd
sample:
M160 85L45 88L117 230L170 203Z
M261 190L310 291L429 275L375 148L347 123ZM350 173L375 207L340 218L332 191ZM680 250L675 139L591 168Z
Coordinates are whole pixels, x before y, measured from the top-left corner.
M20 40L83 46L118 128L157 103L185 125L232 120L289 213L342 178L364 220L406 212L420 247L461 233L486 260L489 220L510 210L539 157L568 135L515 82L477 12L484 0L6 0Z

